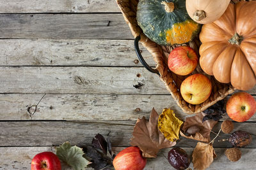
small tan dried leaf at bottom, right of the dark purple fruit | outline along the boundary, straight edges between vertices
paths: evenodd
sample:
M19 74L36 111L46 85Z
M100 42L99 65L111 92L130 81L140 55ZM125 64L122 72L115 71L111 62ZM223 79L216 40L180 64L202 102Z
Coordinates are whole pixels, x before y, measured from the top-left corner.
M204 170L212 164L216 156L212 143L198 142L192 153L193 166L195 169Z

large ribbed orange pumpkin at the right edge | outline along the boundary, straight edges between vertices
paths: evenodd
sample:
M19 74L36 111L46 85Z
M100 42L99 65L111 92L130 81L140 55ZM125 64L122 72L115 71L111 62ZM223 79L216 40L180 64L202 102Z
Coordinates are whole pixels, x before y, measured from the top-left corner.
M256 84L256 1L229 4L200 33L200 66L221 83L248 90Z

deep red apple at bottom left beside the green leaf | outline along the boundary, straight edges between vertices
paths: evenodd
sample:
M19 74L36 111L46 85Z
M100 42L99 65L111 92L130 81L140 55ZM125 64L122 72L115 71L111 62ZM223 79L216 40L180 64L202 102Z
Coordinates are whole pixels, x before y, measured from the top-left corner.
M31 170L61 170L60 159L52 152L38 153L32 159Z

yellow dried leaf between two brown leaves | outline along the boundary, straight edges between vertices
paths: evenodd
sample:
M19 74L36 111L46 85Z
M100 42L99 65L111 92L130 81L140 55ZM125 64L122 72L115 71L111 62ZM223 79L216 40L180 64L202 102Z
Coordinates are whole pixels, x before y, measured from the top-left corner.
M170 108L164 109L158 118L158 129L169 141L179 139L180 126L183 124Z

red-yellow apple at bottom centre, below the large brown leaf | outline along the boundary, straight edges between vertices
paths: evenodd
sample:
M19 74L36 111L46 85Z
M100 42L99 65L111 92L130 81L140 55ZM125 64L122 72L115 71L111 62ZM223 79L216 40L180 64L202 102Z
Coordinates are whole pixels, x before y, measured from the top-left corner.
M147 159L141 155L140 148L131 146L119 152L113 160L115 170L142 170Z

